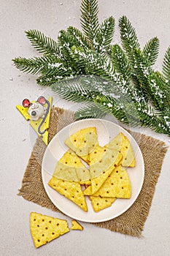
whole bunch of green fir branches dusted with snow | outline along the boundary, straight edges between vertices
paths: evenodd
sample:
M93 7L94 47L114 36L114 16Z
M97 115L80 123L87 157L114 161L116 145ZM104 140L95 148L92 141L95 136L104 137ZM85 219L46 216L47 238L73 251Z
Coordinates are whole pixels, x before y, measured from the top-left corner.
M123 124L150 127L170 135L170 48L162 72L153 65L159 39L142 49L130 20L119 20L121 45L114 44L115 19L99 23L98 1L82 0L80 29L59 31L58 40L41 31L26 31L40 57L13 59L23 72L39 75L37 83L74 102L86 102L76 118L112 114Z

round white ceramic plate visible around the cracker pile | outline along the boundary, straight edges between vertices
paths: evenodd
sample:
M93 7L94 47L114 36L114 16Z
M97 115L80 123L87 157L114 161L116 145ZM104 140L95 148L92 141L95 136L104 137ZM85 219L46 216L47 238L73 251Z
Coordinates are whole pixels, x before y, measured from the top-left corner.
M112 206L105 208L98 213L93 211L88 197L86 198L88 204L88 212L85 212L71 200L67 199L63 195L60 195L47 184L48 181L50 181L50 178L53 176L56 163L68 150L67 146L64 144L64 140L66 140L66 138L68 138L72 133L86 127L96 127L98 133L98 143L100 146L104 146L119 132L123 132L123 134L130 140L136 157L136 167L127 168L128 175L131 180L131 198L117 199L115 200L115 203L112 204ZM120 214L123 214L128 210L128 208L132 206L138 197L144 181L144 161L142 152L140 151L140 148L134 138L132 138L125 129L118 126L117 124L112 123L111 121L106 121L103 119L85 119L76 121L58 132L58 134L55 135L53 140L51 140L47 146L42 160L42 181L47 195L50 197L50 200L60 211L62 211L67 216L82 222L104 222L109 219L118 217Z

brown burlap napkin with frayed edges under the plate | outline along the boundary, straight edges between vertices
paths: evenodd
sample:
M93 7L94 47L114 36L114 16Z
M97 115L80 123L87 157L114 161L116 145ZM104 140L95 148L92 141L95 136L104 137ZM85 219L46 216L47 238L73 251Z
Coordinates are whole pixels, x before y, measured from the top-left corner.
M73 121L75 121L73 112L53 107L50 118L49 142L60 129L71 124ZM144 184L142 191L135 203L124 214L107 222L96 223L95 225L139 237L142 235L144 223L150 211L155 185L161 173L161 166L167 147L165 143L155 138L137 132L131 132L131 135L139 142L139 147L144 157ZM50 208L53 211L59 211L50 201L42 184L41 165L45 149L45 143L42 142L41 138L37 138L18 195L40 206Z

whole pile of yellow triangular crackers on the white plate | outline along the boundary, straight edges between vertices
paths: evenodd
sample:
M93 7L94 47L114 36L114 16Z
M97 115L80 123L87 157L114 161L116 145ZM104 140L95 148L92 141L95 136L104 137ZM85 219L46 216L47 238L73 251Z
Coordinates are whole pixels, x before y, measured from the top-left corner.
M134 150L120 132L101 147L96 127L80 129L65 140L68 151L59 159L50 187L88 211L112 206L117 198L131 197L131 181L125 167L135 167Z

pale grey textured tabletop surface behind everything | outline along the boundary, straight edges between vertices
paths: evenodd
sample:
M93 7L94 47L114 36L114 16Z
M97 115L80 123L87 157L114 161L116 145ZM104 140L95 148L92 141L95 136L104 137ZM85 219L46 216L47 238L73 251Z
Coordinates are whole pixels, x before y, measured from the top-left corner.
M50 89L36 85L36 76L24 74L12 65L18 56L37 56L26 39L24 31L38 29L56 39L60 29L80 27L80 0L3 1L0 0L0 128L1 128L1 255L169 255L169 153L163 162L149 217L144 226L143 238L112 233L83 223L83 232L74 231L58 240L34 249L29 231L29 214L37 211L53 217L63 217L18 197L23 173L34 143L32 130L15 109L23 98L36 99L41 94L52 95L56 105L73 108L53 95ZM98 1L100 21L113 15L116 20L115 42L120 42L118 19L126 15L144 46L148 39L160 39L160 53L155 65L161 70L163 54L170 45L170 1L168 0L107 0ZM170 145L166 135L149 129L142 132L161 139ZM68 218L70 222L70 219ZM102 241L102 242L101 242Z

